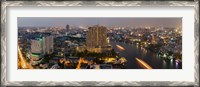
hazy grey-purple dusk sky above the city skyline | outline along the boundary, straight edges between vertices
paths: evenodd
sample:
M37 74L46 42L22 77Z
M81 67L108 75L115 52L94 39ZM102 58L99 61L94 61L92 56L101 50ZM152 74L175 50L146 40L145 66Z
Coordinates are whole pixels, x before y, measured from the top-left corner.
M181 24L182 18L138 18L138 17L18 17L18 27L65 27L105 25L107 27L169 26Z

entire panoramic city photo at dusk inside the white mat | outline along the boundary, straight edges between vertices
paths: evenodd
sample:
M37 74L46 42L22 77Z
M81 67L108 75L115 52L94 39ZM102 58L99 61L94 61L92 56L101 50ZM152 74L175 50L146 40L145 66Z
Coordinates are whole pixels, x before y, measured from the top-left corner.
M18 69L182 69L182 18L18 17Z

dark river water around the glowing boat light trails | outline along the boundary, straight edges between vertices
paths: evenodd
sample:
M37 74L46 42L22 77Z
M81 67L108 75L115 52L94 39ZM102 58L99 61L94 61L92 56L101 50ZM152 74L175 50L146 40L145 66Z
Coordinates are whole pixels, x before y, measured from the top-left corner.
M127 69L142 69L142 67L136 61L136 57L142 59L149 64L153 69L181 69L182 64L175 61L165 61L155 53L146 50L136 44L129 44L124 42L111 41L110 44L116 52L119 52L120 57L127 59ZM116 45L122 46L125 50L119 49Z

